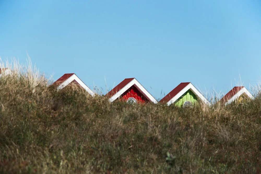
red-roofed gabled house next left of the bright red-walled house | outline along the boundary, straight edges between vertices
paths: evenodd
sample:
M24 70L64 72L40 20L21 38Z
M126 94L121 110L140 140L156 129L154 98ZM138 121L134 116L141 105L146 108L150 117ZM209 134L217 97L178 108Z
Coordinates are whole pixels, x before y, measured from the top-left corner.
M92 96L95 95L95 93L87 85L85 85L84 82L82 82L81 79L79 79L79 77L76 76L75 73L64 74L62 77L56 80L52 85L57 86L57 90L60 90L69 84L77 84L78 86L85 89L90 95Z

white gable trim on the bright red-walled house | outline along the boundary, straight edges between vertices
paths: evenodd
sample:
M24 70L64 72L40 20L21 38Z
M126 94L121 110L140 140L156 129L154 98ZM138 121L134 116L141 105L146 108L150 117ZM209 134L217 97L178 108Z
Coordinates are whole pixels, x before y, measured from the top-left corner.
M121 94L123 94L125 91L127 91L130 87L135 86L138 88L138 90L144 95L146 96L150 101L152 101L153 103L158 103L158 101L138 82L138 80L136 80L135 78L130 81L126 86L124 86L123 88L121 88L120 91L118 91L116 94L114 94L109 101L112 102L114 100L116 100L118 97L121 96Z

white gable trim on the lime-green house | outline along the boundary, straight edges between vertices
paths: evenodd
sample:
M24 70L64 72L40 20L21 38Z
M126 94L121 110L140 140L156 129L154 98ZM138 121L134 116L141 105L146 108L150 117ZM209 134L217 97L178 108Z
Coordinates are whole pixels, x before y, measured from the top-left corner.
M209 101L192 85L189 83L185 88L183 88L177 95L175 95L172 99L167 102L167 105L171 105L177 99L179 99L186 91L191 90L197 97L199 97L205 104L210 105Z

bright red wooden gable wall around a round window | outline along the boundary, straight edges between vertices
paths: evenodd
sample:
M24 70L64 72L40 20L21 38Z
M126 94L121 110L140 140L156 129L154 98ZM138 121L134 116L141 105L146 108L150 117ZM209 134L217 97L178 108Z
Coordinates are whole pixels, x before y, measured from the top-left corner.
M121 94L120 100L127 101L130 97L135 98L137 103L149 102L149 100L135 86L130 87L127 91Z

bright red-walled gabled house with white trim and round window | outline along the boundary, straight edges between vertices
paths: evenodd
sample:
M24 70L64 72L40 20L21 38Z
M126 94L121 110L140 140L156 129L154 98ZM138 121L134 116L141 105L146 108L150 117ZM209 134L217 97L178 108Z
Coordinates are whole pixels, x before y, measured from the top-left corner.
M118 99L128 103L158 103L135 78L124 79L105 96L109 97L110 102Z

